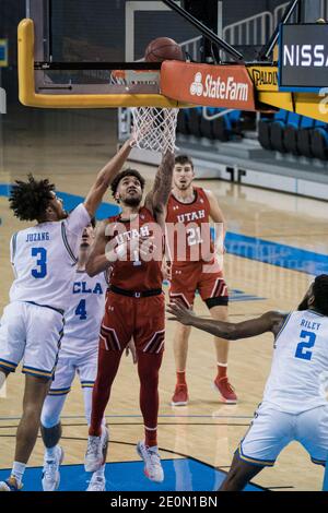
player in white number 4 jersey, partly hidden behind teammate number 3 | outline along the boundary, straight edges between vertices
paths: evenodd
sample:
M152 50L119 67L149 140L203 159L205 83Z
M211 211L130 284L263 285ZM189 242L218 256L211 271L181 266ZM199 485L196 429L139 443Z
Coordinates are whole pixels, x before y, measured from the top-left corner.
M65 314L65 333L55 380L42 411L42 436L46 448L44 491L55 491L59 487L59 466L63 461L63 450L58 445L61 438L60 415L77 373L83 390L85 418L90 423L92 389L97 372L99 326L107 289L105 273L90 277L85 272L94 226L95 222L92 219L82 235L78 266L71 284L70 306ZM90 490L105 489L104 470L105 465L94 473Z

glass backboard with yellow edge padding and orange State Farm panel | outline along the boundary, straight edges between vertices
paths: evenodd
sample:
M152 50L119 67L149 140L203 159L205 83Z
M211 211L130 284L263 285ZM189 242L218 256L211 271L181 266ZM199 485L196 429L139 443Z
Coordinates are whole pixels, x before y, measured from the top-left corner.
M236 34L233 25L223 29L221 26L223 37L220 37L219 26L215 34L195 16L192 21L190 13L183 12L179 1L27 0L28 19L19 27L20 99L26 106L49 108L199 105L254 111L273 107L321 120L318 95L291 97L279 91L277 81L266 82L266 76L278 73L272 60L279 38L278 21L290 22L298 3L300 0L291 0L286 7L282 4L273 14L269 13L270 20L277 17L277 23L272 20L268 23L267 12L242 21L241 40L246 22L246 35L258 33L258 19L263 35L268 31L258 41L267 41L260 58L249 61L243 49L233 47ZM221 14L222 5L226 3L218 1ZM163 36L180 44L186 60L191 62L142 62L149 43ZM229 55L230 61L222 62L214 53L210 68L200 61L203 38L220 48L221 55ZM251 43L255 45L256 39ZM114 73L117 70L132 73L128 80L127 75L117 80ZM136 74L140 70L148 73ZM258 75L263 75L263 83L255 81ZM199 94L192 90L195 82Z

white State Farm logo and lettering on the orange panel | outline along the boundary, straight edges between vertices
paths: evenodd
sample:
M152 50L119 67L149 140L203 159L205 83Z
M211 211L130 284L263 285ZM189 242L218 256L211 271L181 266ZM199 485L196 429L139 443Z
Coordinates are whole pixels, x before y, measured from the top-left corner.
M236 82L234 76L222 79L207 74L204 80L202 73L198 72L190 85L191 96L203 96L204 98L227 99L233 102L247 102L249 85Z

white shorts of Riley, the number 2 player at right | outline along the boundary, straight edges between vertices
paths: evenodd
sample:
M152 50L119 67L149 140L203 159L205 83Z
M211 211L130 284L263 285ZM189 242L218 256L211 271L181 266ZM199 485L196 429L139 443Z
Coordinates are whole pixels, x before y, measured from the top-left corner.
M313 463L325 465L328 456L328 405L301 414L286 414L262 403L242 440L241 460L260 466L273 466L280 452L291 442L300 442Z

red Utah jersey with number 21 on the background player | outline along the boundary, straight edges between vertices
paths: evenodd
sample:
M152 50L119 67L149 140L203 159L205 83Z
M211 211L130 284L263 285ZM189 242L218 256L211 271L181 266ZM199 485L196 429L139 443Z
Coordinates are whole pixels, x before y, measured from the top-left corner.
M169 194L166 214L167 240L175 265L209 261L214 254L211 241L210 202L203 189L194 187L195 200L183 203Z

